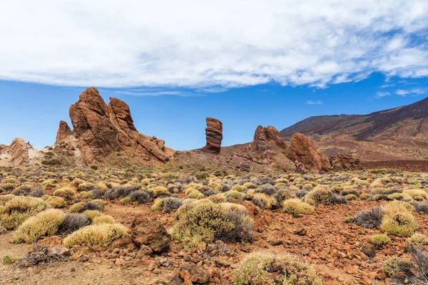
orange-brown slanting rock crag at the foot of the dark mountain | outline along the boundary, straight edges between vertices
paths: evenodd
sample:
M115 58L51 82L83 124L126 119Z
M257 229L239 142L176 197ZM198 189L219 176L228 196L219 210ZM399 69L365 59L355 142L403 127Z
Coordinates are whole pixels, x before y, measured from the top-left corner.
M301 133L295 133L291 138L290 150L287 157L294 161L302 169L302 163L306 170L320 171L330 170L331 165L327 155L317 151L314 142Z

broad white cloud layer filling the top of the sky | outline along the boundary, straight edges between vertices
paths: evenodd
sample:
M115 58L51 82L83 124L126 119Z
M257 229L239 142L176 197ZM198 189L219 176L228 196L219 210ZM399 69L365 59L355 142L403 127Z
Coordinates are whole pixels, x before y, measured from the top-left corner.
M428 1L4 0L0 80L205 90L428 76ZM214 88L214 89L212 89Z

